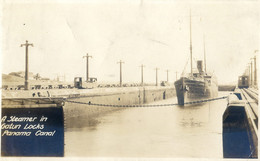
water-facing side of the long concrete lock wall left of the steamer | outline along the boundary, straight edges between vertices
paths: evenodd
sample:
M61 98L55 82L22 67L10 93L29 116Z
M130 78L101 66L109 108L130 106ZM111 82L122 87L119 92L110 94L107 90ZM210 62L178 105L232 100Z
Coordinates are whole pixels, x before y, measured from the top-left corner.
M80 95L71 98L71 101L91 102L108 105L133 105L146 104L175 96L174 88L139 88L122 93L102 93L102 95ZM127 108L127 107L126 107ZM82 128L94 126L98 123L97 117L108 112L126 109L123 107L89 106L66 102L64 106L65 128ZM84 124L78 121L84 119Z

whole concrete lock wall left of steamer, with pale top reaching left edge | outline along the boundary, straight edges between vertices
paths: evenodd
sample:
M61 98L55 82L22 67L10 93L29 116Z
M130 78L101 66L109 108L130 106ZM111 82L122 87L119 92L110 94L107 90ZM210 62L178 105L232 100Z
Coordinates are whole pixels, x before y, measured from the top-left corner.
M2 98L59 98L84 103L99 103L110 105L146 104L175 96L173 87L117 87L93 89L38 89L28 91L4 91ZM125 109L122 107L89 106L66 102L64 108L65 128L88 126L97 123L96 117L110 111ZM84 118L88 122L81 124L77 118ZM86 124L86 125L85 125Z

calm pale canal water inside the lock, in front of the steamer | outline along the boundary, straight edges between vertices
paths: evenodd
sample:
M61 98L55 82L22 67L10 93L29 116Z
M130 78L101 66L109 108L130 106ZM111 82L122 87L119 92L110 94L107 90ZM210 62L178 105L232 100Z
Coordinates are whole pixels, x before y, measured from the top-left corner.
M218 96L226 96L219 92ZM176 103L177 98L156 102ZM153 103L154 104L154 103ZM226 100L200 105L127 108L98 124L68 128L67 157L223 158L222 114ZM79 119L84 124L84 119Z

